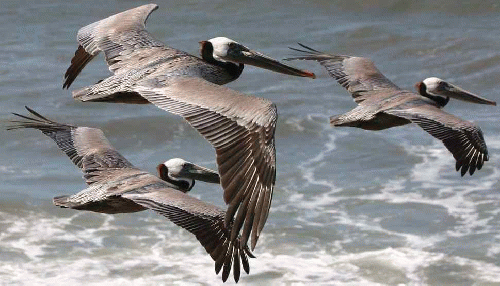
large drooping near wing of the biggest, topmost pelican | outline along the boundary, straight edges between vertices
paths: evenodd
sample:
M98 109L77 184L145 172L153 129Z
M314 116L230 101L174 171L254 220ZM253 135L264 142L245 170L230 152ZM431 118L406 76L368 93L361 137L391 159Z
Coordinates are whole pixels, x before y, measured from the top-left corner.
M229 205L226 223L234 218L231 237L241 230L246 243L251 232L254 249L276 180L276 106L201 78L173 78L166 87L139 86L134 91L184 117L214 146Z

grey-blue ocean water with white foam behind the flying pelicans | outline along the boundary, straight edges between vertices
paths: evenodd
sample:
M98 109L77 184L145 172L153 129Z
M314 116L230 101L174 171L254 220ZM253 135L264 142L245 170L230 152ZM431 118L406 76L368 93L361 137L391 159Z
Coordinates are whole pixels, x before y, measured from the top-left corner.
M215 168L213 149L154 106L81 103L62 90L80 27L146 2L0 4L0 284L217 285L197 240L146 211L104 215L52 205L85 187L36 130L6 131L27 105L53 120L101 128L137 167L181 157ZM372 58L403 88L436 76L500 100L497 1L158 1L148 30L197 54L226 36L282 59L301 42ZM450 101L481 127L490 161L473 176L418 126L332 128L355 107L314 62L315 80L246 67L229 87L276 103L277 182L268 222L240 285L500 285L500 119L494 106ZM109 71L102 57L70 89ZM192 195L223 207L218 186ZM227 285L234 281L226 282Z

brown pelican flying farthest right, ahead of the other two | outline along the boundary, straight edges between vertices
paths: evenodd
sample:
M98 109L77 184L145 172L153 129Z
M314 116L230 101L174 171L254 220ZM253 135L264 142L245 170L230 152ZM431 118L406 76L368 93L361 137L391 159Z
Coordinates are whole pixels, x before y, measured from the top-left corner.
M288 60L319 62L346 88L358 104L353 110L330 118L332 126L383 130L416 123L440 139L456 160L461 175L472 175L488 161L488 149L479 127L441 110L450 97L463 101L496 105L436 77L418 82L418 94L403 90L387 79L368 58L329 55L299 43L306 50L291 48L306 55Z

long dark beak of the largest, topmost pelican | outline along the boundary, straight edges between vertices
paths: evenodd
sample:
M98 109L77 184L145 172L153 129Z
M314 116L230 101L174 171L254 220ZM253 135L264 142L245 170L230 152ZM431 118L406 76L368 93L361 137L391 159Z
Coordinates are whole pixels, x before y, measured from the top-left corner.
M255 67L259 67L259 68L268 69L268 70L271 70L274 72L279 72L282 74L316 78L316 75L310 71L300 70L300 69L296 69L296 68L291 67L291 66L287 66L285 64L280 63L277 60L274 60L274 59L272 59L268 56L265 56L261 53L252 51L246 47L244 47L244 49L238 50L237 52L228 53L226 55L225 59L232 61L232 62L237 62L237 63L247 64L247 65L252 65Z

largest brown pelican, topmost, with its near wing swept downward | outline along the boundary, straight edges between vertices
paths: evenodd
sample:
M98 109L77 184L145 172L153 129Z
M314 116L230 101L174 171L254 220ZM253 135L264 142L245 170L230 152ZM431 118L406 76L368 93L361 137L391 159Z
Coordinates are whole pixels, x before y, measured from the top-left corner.
M285 66L224 37L201 42L198 58L165 46L145 29L155 4L131 9L78 31L79 47L63 87L103 51L114 73L73 92L80 101L153 103L184 117L215 148L231 239L251 237L255 248L271 206L276 179L276 106L268 100L220 86L244 64L284 74L315 75Z

